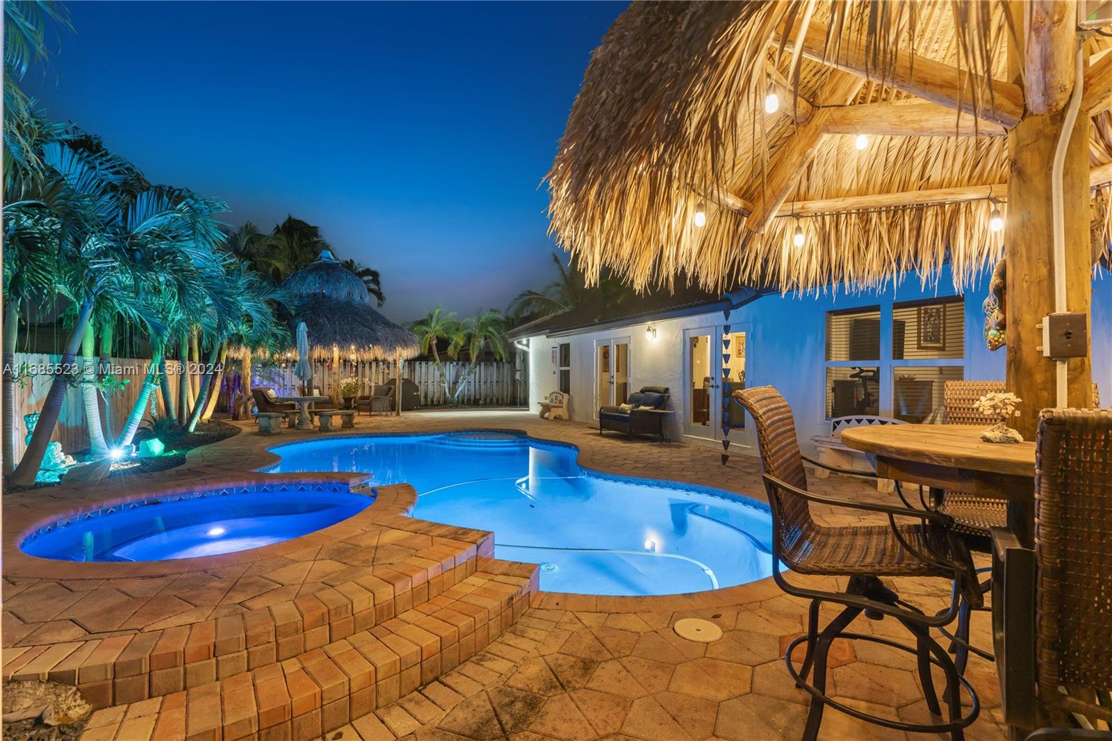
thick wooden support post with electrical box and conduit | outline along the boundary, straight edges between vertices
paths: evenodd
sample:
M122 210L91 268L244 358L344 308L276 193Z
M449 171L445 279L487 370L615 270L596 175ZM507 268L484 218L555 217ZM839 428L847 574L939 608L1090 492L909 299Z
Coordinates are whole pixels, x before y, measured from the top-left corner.
M1013 6L1014 7L1014 6ZM1073 27L1055 33L1032 33L1027 42L1073 45ZM1009 55L1009 72L1017 78L1025 56ZM1029 57L1045 58L1045 50L1027 49ZM1070 80L1073 70L1069 70ZM1039 85L1060 89L1061 81L1036 78ZM1072 86L1071 86L1072 87ZM1031 95L1031 91L1027 91ZM1051 96L1044 96L1050 99ZM1051 202L1054 150L1068 107L1037 115L1026 112L1007 137L1011 178L1004 244L1007 257L1007 389L1023 399L1016 428L1033 439L1039 412L1058 406L1055 362L1043 357L1041 324L1054 312L1054 230ZM1089 115L1081 110L1062 168L1065 207L1066 305L1070 312L1090 314L1092 259L1089 238ZM1090 338L1091 339L1091 338ZM1069 405L1092 405L1092 352L1069 364Z

